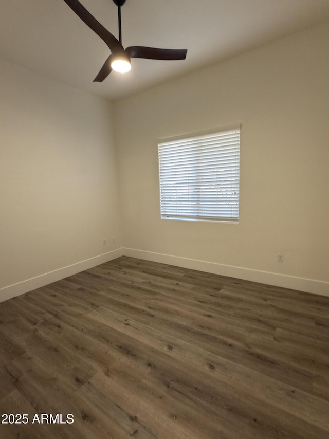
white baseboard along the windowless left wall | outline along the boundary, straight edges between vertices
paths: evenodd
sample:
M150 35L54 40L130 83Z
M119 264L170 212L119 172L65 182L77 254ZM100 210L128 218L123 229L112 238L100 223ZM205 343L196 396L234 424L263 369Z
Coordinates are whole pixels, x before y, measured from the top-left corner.
M113 259L119 258L123 254L123 249L119 248L117 250L109 251L108 253L100 254L94 258L86 259L85 261L68 265L67 267L59 268L58 270L50 271L44 275L36 276L35 278L27 279L26 281L0 288L0 302L4 302L12 297L20 296L25 292L32 291L33 289L59 281L67 278L68 276L75 275L80 271L87 270L88 268L95 267L96 265L103 264L104 262L112 261Z

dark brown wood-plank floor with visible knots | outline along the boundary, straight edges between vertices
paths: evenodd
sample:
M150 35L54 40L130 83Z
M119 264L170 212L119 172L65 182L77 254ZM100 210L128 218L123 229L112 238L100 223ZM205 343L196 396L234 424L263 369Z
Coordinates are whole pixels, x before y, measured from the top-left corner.
M329 437L326 297L122 257L0 303L0 337L4 439Z

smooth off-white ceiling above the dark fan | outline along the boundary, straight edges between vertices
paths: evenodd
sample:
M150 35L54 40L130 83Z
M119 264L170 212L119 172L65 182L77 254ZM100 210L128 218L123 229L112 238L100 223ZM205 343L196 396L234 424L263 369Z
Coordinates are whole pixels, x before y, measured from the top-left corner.
M80 0L117 36L112 0ZM329 20L329 0L126 0L123 45L188 49L185 61L132 60L93 79L109 49L63 0L1 0L0 55L92 93L117 99Z

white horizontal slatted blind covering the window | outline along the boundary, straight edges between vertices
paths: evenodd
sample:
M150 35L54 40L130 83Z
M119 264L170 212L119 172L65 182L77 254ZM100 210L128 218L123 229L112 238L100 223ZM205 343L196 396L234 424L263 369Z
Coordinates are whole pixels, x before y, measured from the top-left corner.
M238 221L240 126L158 148L162 218Z

